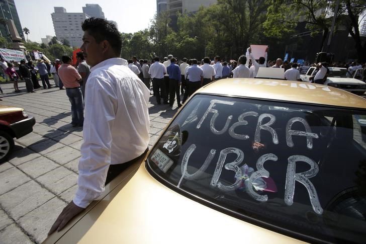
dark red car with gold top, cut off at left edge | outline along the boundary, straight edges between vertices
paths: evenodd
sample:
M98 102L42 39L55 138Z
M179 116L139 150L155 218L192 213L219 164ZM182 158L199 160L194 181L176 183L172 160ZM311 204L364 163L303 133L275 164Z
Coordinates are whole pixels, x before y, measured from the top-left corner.
M22 108L0 105L0 163L6 161L14 147L14 138L33 131L36 123Z

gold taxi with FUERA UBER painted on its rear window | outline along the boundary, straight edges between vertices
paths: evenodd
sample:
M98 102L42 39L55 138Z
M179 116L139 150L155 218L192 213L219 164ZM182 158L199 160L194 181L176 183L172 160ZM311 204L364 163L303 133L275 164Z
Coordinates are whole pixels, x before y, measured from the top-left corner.
M333 87L218 80L44 243L364 243L365 118Z

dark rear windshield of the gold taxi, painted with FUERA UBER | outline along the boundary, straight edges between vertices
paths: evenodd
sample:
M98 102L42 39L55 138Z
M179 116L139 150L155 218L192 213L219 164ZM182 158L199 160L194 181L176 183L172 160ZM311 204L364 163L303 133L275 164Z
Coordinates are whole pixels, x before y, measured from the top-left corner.
M147 164L178 192L245 221L304 240L364 243L365 149L364 110L201 94Z

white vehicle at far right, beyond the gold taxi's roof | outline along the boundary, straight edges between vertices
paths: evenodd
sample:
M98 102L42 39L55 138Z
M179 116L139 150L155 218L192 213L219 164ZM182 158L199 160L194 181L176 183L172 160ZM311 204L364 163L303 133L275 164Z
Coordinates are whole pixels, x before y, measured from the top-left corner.
M328 77L324 85L336 87L357 95L363 95L366 92L366 84L362 82L362 69L357 69L351 77L346 68L328 67ZM311 82L309 78L314 76L316 67L310 67L306 74L300 74L303 82Z

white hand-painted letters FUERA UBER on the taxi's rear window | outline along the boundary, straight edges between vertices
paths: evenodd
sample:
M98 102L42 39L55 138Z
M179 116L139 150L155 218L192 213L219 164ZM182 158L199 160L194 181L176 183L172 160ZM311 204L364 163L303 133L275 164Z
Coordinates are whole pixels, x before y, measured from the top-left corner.
M253 112L253 111L245 112L238 116L238 122L233 123L229 127L230 122L233 118L233 116L230 115L230 116L228 116L228 118L226 120L224 128L219 131L215 128L215 121L216 121L217 117L219 116L218 110L214 109L215 104L233 105L234 102L212 100L210 106L208 107L205 114L202 116L201 120L197 124L197 127L196 127L197 129L199 129L202 126L202 123L205 121L208 114L213 113L213 116L210 121L210 130L212 133L220 135L220 134L225 133L226 131L229 131L230 136L232 136L233 138L239 139L239 140L247 140L250 138L249 135L236 134L234 132L234 130L238 126L243 126L243 125L248 124L248 122L245 120L246 117L255 116L255 117L258 117L258 120L257 120L256 129L255 129L255 133L254 133L254 141L260 142L260 132L262 130L265 130L271 134L272 142L274 144L279 143L279 137L277 135L277 132L273 128L270 127L276 121L276 117L274 115L269 114L269 113L263 113L263 114L259 115L258 113ZM265 118L269 118L269 121L266 123L263 123L263 120ZM293 130L292 126L294 123L302 123L304 125L304 131ZM307 123L307 121L300 117L291 118L287 122L286 143L289 147L294 146L294 142L292 140L293 136L306 137L306 146L308 149L313 148L313 139L319 138L318 134L312 133L311 128L310 128L309 124ZM183 179L193 180L193 179L198 178L200 175L202 175L206 171L208 166L211 164L211 161L216 154L216 150L211 149L204 164L202 165L202 167L195 173L190 174L187 171L187 168L189 165L189 159L190 159L191 154L196 150L196 148L197 148L196 144L190 145L182 158L182 162L181 162L182 176L180 178L180 181L179 181L177 187L180 187L180 184ZM236 154L236 158L231 162L226 162L226 158L229 153ZM221 150L217 164L216 164L216 169L213 173L213 177L212 177L210 185L212 187L217 187L223 191L232 191L232 190L236 190L236 189L240 188L241 181L242 181L241 179L244 174L242 168L240 167L240 164L242 163L243 159L244 159L244 152L239 148L228 147L228 148ZM278 157L277 157L277 155L275 155L273 153L267 153L267 154L261 155L256 161L256 171L250 175L250 177L248 179L249 184L245 185L245 188L246 188L245 192L250 197L255 199L256 201L265 202L268 200L267 195L258 194L257 192L254 191L252 186L253 186L254 181L257 180L258 178L262 178L262 177L268 178L269 177L269 175L270 175L269 172L267 170L265 170L264 166L263 166L264 162L269 161L269 160L277 161ZM300 162L300 161L306 162L310 166L310 170L301 172L301 173L295 173L296 172L296 163ZM221 175L223 168L225 168L226 170L229 170L229 171L233 171L235 173L236 180L232 185L227 186L220 182L219 179L220 179L220 175ZM319 167L316 164L316 162L305 155L292 155L288 158L285 196L284 196L285 203L288 206L291 206L293 204L293 199L294 199L294 195L295 195L295 182L297 181L306 187L314 212L316 212L317 214L323 213L323 209L320 205L316 189L315 189L314 185L311 183L311 181L309 180L310 178L316 176L318 174L318 172L319 172Z

